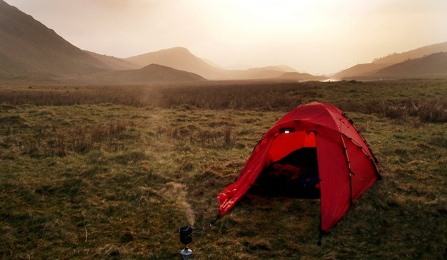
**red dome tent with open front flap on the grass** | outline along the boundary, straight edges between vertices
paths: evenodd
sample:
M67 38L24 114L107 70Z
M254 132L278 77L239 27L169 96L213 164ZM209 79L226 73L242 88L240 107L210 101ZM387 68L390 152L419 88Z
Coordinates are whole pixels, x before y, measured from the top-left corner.
M305 148L316 150L314 161L318 178L312 188L318 189L321 198L323 231L334 226L349 210L352 201L380 178L377 160L351 120L335 106L312 102L291 110L264 134L236 182L218 195L219 217L256 185L266 169ZM297 165L289 168L294 167L306 168ZM287 182L298 180L300 173L294 174L288 175Z

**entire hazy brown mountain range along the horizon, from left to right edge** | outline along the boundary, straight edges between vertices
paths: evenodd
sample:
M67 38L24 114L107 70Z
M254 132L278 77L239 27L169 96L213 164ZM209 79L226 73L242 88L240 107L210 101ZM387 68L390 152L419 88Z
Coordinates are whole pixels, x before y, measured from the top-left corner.
M187 82L205 79L326 79L325 76L298 73L293 68L284 65L226 70L213 66L214 63L211 61L196 57L184 47L147 52L124 59L99 55L88 50L80 50L45 24L3 0L0 0L0 46L0 78L3 82L64 84L64 82L75 82L76 77L80 78L79 82L82 80L95 82L96 80L97 84L110 82L113 78L122 82L117 75L126 78L123 84L149 84L170 80L180 82L182 79ZM427 45L399 54L394 53L374 59L369 64L357 64L333 74L332 78L444 77L446 55L432 56L434 54L432 52L447 52L447 42ZM156 69L154 66L149 67L151 69L146 68L152 64L161 66ZM145 70L140 71L141 68ZM153 75L149 75L151 73ZM155 75L159 75L160 78L154 78Z

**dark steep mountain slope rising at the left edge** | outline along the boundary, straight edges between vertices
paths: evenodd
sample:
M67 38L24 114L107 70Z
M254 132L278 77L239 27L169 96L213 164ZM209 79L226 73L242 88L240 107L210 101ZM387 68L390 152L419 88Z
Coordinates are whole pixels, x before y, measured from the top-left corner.
M67 75L105 66L52 29L0 0L0 75Z

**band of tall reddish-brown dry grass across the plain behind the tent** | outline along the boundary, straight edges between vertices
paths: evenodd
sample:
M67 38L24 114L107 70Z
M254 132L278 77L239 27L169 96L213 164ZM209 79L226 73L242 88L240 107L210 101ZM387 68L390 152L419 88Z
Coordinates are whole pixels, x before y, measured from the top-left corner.
M302 103L332 103L344 111L392 119L447 122L445 80L383 82L222 81L173 86L3 87L3 106L108 103L150 108L288 111Z

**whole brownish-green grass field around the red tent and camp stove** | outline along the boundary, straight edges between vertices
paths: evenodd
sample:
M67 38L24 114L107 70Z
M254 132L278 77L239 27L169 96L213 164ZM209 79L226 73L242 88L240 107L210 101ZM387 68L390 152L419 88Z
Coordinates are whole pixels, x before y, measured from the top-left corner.
M217 194L288 110L338 106L383 180L317 245L319 201ZM0 259L446 259L447 81L0 88Z

